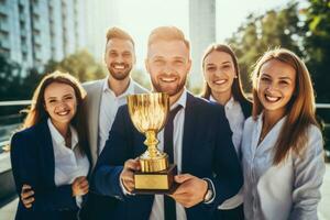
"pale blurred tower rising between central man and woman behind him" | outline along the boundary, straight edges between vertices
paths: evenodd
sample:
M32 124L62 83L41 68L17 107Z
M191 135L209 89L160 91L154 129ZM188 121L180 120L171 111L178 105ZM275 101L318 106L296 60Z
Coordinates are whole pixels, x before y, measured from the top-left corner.
M205 50L216 42L216 0L189 0L189 38L193 66L190 88L200 87L204 81L201 57Z

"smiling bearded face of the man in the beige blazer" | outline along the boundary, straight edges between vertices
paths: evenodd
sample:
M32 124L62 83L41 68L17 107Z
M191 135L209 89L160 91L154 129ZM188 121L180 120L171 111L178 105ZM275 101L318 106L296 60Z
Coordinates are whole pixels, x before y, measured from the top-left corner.
M129 77L135 63L134 46L131 41L111 38L107 44L105 61L110 75L117 80Z

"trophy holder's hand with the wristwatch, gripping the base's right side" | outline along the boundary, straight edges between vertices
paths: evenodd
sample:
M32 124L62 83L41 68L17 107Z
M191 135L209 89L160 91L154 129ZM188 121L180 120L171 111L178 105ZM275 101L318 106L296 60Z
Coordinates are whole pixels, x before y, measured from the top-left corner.
M204 201L208 184L206 180L190 174L176 175L175 182L179 184L178 188L169 195L177 202L186 208L190 208Z

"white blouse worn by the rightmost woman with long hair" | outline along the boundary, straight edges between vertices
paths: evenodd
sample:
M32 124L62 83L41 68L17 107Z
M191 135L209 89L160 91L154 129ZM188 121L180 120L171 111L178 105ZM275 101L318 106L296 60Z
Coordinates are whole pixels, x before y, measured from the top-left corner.
M250 220L315 220L326 170L322 134L316 125L307 130L306 148L299 156L290 151L274 166L274 146L286 117L258 144L263 117L249 118L242 138L244 215Z

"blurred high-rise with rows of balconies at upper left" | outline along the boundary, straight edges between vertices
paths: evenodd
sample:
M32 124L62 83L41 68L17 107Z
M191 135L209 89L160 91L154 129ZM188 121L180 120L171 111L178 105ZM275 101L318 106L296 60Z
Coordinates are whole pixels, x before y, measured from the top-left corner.
M86 0L0 0L0 52L23 68L85 46Z

